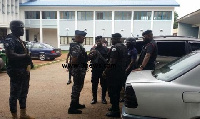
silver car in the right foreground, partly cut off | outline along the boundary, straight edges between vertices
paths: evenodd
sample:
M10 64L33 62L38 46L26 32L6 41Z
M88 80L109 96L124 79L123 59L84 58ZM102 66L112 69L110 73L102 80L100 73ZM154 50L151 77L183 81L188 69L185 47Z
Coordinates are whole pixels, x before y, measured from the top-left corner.
M126 81L123 119L199 119L200 50Z

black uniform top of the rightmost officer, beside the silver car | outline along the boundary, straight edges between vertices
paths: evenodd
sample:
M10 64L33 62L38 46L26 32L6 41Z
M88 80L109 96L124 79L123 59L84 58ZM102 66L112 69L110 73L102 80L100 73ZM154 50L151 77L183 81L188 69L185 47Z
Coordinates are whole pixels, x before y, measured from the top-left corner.
M138 67L142 65L142 62L145 58L146 53L150 53L151 57L146 64L146 66L143 68L143 70L154 70L155 69L155 60L157 58L158 54L158 48L157 44L154 40L150 41L149 43L145 44L142 47L142 51L140 53L140 57L138 59Z

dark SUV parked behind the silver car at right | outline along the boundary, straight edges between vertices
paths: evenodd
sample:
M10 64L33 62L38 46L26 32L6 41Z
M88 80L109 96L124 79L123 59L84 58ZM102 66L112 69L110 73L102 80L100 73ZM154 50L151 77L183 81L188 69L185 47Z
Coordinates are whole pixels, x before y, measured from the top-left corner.
M158 46L157 67L200 48L200 39L193 37L157 36L154 37L154 40ZM142 38L139 38L136 41L138 54L141 52L143 45Z

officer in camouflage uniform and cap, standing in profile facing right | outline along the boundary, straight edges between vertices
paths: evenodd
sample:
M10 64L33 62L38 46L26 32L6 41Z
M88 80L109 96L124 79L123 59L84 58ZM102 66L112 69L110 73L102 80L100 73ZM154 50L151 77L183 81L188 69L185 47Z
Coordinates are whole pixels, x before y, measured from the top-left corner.
M85 74L87 70L87 53L81 45L84 42L85 35L84 31L75 31L76 43L71 46L71 64L72 64L72 76L74 84L72 86L71 103L68 109L68 114L81 114L82 111L78 109L85 108L85 105L79 104L80 92L83 88Z

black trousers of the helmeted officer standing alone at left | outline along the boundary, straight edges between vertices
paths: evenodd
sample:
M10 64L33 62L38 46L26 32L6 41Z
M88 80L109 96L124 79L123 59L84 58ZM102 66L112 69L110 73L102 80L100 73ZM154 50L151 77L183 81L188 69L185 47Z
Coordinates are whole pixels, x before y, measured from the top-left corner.
M10 77L10 98L9 105L11 113L17 112L17 99L20 109L26 108L26 98L29 89L30 72L26 69L7 71Z

